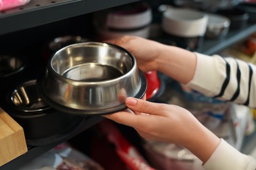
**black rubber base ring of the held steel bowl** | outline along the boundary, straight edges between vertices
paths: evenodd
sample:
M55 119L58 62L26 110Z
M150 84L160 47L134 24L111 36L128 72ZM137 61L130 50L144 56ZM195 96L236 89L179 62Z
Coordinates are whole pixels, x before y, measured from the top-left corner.
M139 92L133 96L137 99L141 99L145 93L146 93L146 88L147 88L147 82L146 82L146 76L144 75L144 73L142 73L142 71L139 71L139 76L141 79L141 86L140 86L140 90ZM41 99L43 99L43 101L45 101L48 105L50 105L51 107L53 107L54 109L60 111L60 112L64 112L67 114L75 114L75 115L104 115L104 114L110 114L110 113L114 113L114 112L118 112L121 110L125 110L127 109L127 106L125 105L125 103L118 105L117 107L111 107L108 109L95 109L95 110L83 110L83 109L73 109L70 107L65 107L63 105L60 105L59 103L56 103L55 101L53 101L52 99L50 99L47 94L45 94L43 92L43 87L41 86L42 84L42 78L39 78L37 80L37 91L41 97Z

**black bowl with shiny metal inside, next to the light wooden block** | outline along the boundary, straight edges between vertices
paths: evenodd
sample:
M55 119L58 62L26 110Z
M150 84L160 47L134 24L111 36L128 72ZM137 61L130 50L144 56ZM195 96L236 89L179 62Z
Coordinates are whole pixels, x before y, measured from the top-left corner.
M5 106L7 113L24 128L26 142L30 146L60 140L84 119L51 108L39 97L35 83L36 80L29 80L17 86L7 96Z

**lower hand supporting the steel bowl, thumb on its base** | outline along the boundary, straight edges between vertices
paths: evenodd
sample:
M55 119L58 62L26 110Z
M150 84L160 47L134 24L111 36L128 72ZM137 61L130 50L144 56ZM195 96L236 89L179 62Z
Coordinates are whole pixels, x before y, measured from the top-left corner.
M130 110L105 117L134 127L145 139L182 145L203 162L208 160L219 144L220 139L182 107L133 97L128 97L125 104Z

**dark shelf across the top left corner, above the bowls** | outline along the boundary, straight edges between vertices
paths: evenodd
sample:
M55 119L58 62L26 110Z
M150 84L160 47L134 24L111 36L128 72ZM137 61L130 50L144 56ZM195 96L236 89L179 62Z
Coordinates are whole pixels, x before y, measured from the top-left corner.
M0 35L135 1L138 0L31 0L22 7L0 11Z

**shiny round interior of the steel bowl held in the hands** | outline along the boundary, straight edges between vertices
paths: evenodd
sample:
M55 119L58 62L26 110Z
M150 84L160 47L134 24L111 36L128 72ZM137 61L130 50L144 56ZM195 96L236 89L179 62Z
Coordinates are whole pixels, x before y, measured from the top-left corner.
M128 73L133 58L123 50L97 42L71 45L56 52L51 59L53 70L60 76L83 82L112 80Z

